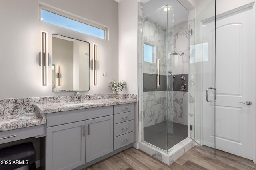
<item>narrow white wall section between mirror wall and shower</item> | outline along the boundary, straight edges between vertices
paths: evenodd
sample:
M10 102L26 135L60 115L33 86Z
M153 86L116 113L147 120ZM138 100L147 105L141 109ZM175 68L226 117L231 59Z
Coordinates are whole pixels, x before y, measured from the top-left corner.
M119 2L119 80L127 82L126 93L138 94L138 2ZM136 90L133 90L133 86Z

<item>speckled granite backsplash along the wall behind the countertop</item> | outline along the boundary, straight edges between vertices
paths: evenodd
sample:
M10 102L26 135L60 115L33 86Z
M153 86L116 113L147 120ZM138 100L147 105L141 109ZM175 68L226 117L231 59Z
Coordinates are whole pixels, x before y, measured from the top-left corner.
M113 94L82 94L82 100L96 100L113 98ZM120 94L122 99L136 99L133 94ZM22 113L32 113L36 111L36 104L67 102L68 99L74 101L74 96L49 96L36 98L11 98L0 99L0 116L14 115ZM80 100L80 96L78 96Z

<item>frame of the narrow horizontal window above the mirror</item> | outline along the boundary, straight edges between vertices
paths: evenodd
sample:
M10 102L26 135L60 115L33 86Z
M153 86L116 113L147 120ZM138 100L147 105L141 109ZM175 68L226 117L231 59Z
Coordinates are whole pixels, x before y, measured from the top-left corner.
M100 23L96 23L94 21L85 19L83 17L77 16L77 15L72 14L70 12L66 12L64 10L60 10L60 9L54 8L52 6L48 6L48 5L43 4L43 3L39 3L38 7L39 7L39 11L38 11L38 20L39 21L41 21L41 9L42 10L46 10L48 12L52 12L54 14L57 14L57 15L69 18L71 20L75 20L75 21L84 23L86 25L90 25L92 27L96 27L98 29L102 29L104 31L104 40L109 40L109 28L106 27L105 25L102 25ZM45 23L47 23L47 22L45 22ZM51 23L49 23L49 24L51 24ZM53 24L51 24L51 25L53 25ZM56 26L58 26L58 25L56 25ZM61 26L58 26L58 27L61 27ZM64 27L62 27L62 28L64 28ZM72 29L70 29L70 30L72 30ZM75 31L75 30L73 30L73 31ZM78 31L76 31L76 32L78 32ZM81 32L79 32L79 33L81 33ZM83 34L90 35L90 34L86 34L86 33L83 33ZM93 36L93 35L90 35L90 36ZM93 37L95 37L95 36L93 36ZM97 38L100 38L100 37L97 37ZM102 39L102 38L100 38L100 39Z

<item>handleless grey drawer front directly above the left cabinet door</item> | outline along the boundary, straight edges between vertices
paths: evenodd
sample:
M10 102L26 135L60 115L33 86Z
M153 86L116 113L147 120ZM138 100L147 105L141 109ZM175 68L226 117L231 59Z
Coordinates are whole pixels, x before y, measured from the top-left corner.
M47 127L85 120L86 109L47 113Z

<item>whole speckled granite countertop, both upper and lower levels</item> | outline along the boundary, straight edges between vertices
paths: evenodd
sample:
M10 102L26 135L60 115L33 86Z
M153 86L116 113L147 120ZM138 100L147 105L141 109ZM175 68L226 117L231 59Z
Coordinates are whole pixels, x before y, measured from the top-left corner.
M97 99L84 100L83 102L62 102L37 104L36 108L39 113L20 113L13 115L0 116L0 132L20 129L24 127L46 124L44 113L55 113L59 111L69 111L77 109L86 109L92 107L111 106L117 104L135 103L136 99ZM41 114L40 114L41 113Z

